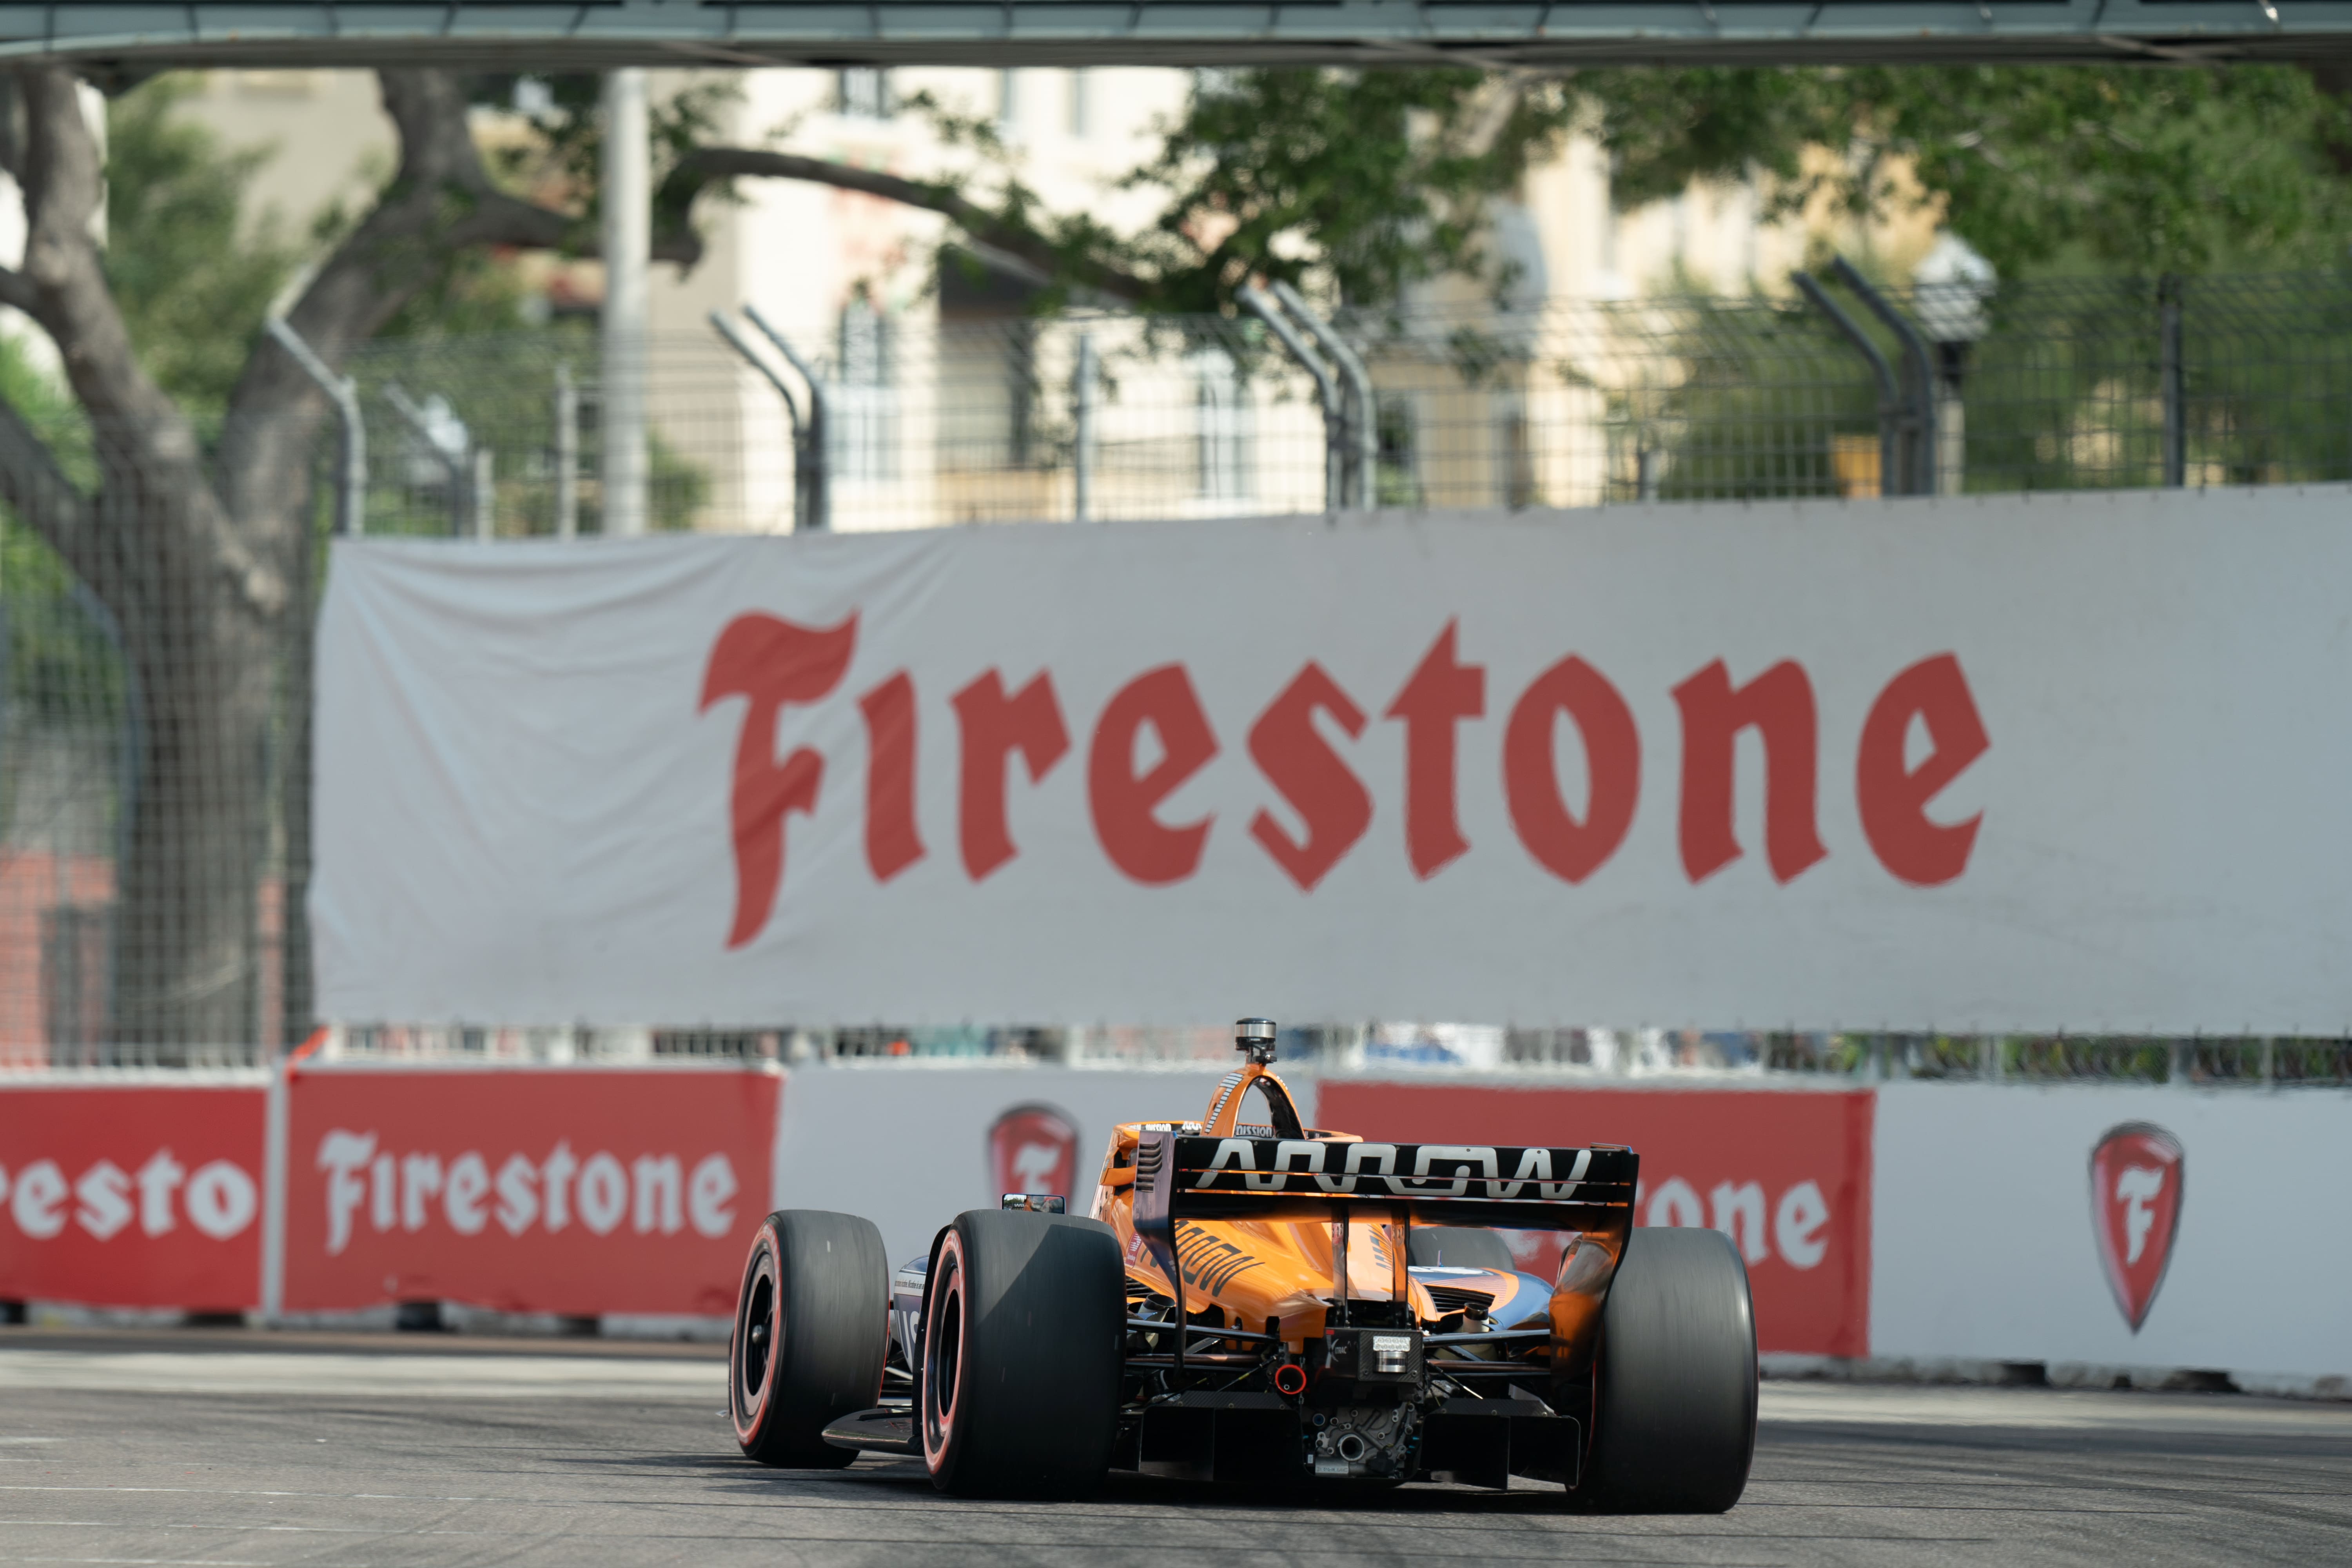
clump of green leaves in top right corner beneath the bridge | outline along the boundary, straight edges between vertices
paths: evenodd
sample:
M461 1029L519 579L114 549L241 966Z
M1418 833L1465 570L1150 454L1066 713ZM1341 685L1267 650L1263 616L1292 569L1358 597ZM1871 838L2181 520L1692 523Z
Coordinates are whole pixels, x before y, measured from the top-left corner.
M1625 207L1750 174L1783 214L1924 202L2009 277L2312 266L2352 235L2333 160L2352 118L2298 66L1595 71L1576 89Z

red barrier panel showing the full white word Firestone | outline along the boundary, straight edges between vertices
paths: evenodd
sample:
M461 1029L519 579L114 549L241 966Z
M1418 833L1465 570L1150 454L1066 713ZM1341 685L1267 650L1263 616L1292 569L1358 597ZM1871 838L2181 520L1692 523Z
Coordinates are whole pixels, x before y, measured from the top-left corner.
M289 1312L729 1314L774 1072L348 1070L289 1086Z

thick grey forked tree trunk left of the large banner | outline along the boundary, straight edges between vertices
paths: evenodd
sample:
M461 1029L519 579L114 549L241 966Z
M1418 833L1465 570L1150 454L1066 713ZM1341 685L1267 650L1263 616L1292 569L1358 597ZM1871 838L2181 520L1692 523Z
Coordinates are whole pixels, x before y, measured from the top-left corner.
M400 167L289 310L327 364L468 252L576 240L572 214L492 181L454 78L383 71L381 92ZM85 465L52 423L0 400L0 501L113 614L141 712L113 1032L165 1056L252 1039L278 656L308 632L310 454L327 402L268 339L230 367L172 357L172 280L111 263L96 237L106 167L71 71L5 78L0 132L26 209L24 266L0 268L0 303L56 343L87 421ZM240 287L249 308L256 280ZM296 1006L301 980L289 973Z

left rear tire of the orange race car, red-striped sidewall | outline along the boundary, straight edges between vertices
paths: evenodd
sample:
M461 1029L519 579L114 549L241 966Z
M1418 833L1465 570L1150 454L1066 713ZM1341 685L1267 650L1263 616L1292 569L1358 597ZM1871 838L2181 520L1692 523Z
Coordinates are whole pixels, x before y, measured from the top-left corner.
M1127 1342L1120 1241L1101 1220L974 1208L931 1255L920 1401L931 1483L1084 1497L1110 1469Z

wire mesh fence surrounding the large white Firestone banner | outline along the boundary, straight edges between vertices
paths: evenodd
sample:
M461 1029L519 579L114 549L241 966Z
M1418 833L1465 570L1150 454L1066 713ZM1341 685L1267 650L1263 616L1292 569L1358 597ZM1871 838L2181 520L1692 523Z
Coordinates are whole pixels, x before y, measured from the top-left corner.
M1828 301L1828 303L1823 303ZM2352 275L1969 296L1639 299L1235 317L847 313L659 341L649 522L779 531L2352 480ZM748 350L748 355L746 355ZM1359 367L1359 374L1357 374ZM369 534L602 529L595 339L390 341L350 367ZM242 442L268 433L200 433ZM254 1060L308 1027L308 616L339 470L183 515L64 421L0 520L0 1065ZM221 461L214 454L214 461ZM275 510L270 510L275 505ZM200 508L198 508L200 510ZM169 527L165 527L169 522ZM78 531L75 531L78 529ZM193 562L181 543L228 538ZM219 543L214 538L214 543ZM59 541L71 548L61 550ZM71 564L68 564L71 562ZM228 562L223 567L221 562ZM350 1020L336 1051L1225 1060L1223 1030L503 1030ZM684 1020L682 1020L684 1023ZM2345 1041L1303 1032L1329 1067L2352 1081Z

